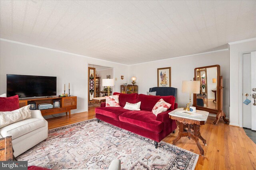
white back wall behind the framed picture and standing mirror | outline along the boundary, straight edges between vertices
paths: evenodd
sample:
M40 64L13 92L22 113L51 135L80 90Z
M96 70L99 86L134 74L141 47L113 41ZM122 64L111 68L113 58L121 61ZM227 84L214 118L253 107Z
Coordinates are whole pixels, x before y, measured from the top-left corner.
M189 94L182 93L182 80L193 80L194 68L210 65L220 65L220 74L224 83L223 108L228 117L229 107L229 51L216 51L200 55L167 59L130 66L130 77L136 76L138 92L146 94L150 87L157 86L157 68L172 67L172 87L178 88L176 102L178 107L184 107L189 101Z

